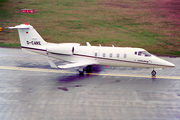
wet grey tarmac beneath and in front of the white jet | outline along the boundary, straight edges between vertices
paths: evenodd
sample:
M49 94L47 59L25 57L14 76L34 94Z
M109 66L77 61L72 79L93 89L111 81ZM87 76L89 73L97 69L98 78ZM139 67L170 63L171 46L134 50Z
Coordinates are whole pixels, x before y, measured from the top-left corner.
M155 79L151 69L117 67L79 76L0 48L0 120L179 120L180 58L163 59L176 67Z

